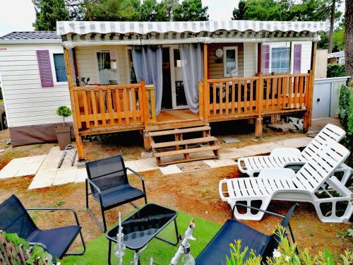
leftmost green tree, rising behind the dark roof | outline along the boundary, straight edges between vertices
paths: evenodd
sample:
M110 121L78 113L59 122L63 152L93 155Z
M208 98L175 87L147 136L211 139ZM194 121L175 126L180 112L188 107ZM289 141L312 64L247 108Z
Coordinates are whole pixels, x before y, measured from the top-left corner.
M70 16L64 0L35 0L35 30L56 30L56 21L69 20Z

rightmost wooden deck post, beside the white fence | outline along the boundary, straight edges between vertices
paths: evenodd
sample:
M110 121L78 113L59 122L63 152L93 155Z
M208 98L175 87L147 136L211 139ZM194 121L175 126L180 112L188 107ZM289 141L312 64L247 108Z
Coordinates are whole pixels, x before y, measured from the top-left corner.
M311 126L311 109L313 107L313 85L315 78L315 61L316 61L316 47L318 42L313 42L311 45L311 67L309 75L309 91L308 91L308 102L306 102L306 113L304 114L304 131L308 131Z

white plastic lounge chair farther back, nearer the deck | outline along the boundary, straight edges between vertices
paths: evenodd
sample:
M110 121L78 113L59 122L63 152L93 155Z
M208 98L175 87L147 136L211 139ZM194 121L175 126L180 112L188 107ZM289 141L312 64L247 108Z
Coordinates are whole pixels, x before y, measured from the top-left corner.
M275 148L270 155L239 158L238 167L249 177L253 177L254 174L264 169L289 167L299 170L314 153L326 146L327 141L339 142L345 134L345 131L340 127L327 124L303 151L299 151L298 148ZM341 182L346 184L352 173L352 168L342 163L335 172L343 172Z

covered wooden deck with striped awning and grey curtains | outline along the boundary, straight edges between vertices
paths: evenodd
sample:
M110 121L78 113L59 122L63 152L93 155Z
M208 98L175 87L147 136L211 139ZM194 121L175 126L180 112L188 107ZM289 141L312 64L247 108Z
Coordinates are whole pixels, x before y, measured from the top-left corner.
M311 124L316 42L326 23L61 21L56 28L80 158L81 137L90 134L141 130L160 162L174 154L189 160L188 143L213 141L209 130L206 139L186 142L174 129L254 119L260 137L263 117L277 114ZM171 129L176 141L154 143ZM161 155L158 147L174 151Z

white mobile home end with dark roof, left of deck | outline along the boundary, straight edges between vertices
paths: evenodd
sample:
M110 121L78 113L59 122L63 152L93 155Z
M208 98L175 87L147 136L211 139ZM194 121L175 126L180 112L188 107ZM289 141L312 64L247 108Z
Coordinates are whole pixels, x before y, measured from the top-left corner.
M61 38L47 31L0 37L0 78L12 145L56 141L56 108L70 106Z

